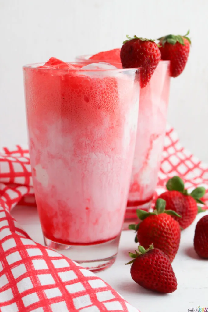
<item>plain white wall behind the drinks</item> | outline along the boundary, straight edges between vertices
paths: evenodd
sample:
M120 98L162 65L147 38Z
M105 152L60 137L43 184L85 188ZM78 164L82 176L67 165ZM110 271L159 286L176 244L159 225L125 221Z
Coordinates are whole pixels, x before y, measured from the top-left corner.
M120 47L126 34L191 29L183 74L172 78L168 121L208 162L207 0L0 0L0 145L27 143L22 65Z

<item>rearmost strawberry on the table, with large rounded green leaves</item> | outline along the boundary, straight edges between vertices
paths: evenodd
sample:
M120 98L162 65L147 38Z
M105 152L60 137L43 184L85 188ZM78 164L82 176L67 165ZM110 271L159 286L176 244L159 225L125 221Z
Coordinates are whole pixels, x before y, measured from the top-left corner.
M205 188L195 188L188 194L184 187L183 180L177 176L169 179L166 184L168 192L162 193L158 198L166 201L166 209L177 212L181 218L173 216L178 221L182 229L190 226L198 212L204 211L197 207L197 202L202 203L201 197L205 194Z

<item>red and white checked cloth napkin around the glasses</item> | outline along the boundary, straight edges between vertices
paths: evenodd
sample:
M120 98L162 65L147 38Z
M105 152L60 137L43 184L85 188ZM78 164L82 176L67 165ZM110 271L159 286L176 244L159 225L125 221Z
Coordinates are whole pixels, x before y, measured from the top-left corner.
M190 190L204 186L208 204L208 165L182 148L167 127L154 198L174 175ZM10 215L17 203L35 205L28 148L19 145L0 153L1 312L138 311L92 272L32 241Z

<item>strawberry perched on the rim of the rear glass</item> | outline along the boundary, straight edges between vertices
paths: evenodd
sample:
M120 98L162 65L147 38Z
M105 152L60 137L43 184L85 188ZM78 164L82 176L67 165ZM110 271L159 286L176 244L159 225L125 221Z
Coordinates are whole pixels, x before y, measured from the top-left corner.
M191 44L188 34L189 31L185 36L168 35L158 39L161 59L170 60L171 77L179 76L186 66Z

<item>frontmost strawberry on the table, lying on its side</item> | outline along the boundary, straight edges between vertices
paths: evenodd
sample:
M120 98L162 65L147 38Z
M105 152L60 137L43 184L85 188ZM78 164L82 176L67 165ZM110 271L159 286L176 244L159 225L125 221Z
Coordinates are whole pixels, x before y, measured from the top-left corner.
M171 293L177 289L177 280L169 258L160 249L150 245L147 250L138 246L131 266L132 279L140 286L161 293Z

